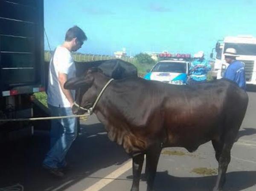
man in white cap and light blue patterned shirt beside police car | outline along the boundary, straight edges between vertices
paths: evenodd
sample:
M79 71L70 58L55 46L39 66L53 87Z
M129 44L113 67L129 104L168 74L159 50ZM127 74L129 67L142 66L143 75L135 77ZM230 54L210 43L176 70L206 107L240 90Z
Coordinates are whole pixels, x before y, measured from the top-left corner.
M207 60L204 59L204 52L199 51L194 55L194 60L191 63L189 84L201 83L207 81L207 73L211 70L211 65Z

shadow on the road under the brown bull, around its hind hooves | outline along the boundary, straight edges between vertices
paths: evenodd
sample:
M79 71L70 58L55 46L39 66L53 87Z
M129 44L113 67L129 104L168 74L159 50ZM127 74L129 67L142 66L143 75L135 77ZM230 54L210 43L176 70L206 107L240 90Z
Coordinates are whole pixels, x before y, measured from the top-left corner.
M145 174L142 174L145 177ZM256 171L236 171L227 173L223 191L241 191L256 184ZM128 176L132 179L132 176ZM212 191L217 176L174 177L168 171L157 172L154 191ZM142 178L145 181L145 178Z

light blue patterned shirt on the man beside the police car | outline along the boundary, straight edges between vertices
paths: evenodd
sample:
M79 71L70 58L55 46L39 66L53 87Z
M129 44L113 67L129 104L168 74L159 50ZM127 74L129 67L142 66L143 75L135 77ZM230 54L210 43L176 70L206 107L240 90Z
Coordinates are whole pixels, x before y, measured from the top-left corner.
M205 59L198 59L191 63L190 77L196 81L207 80L207 73L211 70L211 65Z

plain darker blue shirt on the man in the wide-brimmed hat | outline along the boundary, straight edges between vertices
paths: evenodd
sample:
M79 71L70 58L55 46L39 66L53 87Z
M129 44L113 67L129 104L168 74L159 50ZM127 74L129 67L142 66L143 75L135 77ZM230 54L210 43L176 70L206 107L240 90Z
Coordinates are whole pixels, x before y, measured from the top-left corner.
M225 71L224 78L232 80L237 83L237 85L244 89L246 88L246 80L244 73L244 64L239 60L233 61Z

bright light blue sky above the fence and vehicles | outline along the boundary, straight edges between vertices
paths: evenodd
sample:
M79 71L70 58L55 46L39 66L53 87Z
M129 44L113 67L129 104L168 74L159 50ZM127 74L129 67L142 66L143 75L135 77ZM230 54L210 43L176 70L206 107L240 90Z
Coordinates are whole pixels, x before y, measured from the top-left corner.
M131 55L203 50L209 56L225 36L256 36L255 18L255 0L44 0L51 48L78 25L88 37L79 52L88 54L113 55L125 47Z

